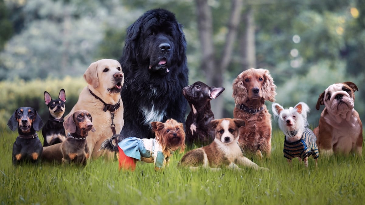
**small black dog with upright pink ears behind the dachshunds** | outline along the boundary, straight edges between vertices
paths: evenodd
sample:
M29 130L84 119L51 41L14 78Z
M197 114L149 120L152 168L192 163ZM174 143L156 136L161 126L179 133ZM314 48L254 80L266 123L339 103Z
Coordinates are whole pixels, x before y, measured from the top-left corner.
M44 138L43 146L46 147L52 144L61 143L66 139L66 133L63 124L66 94L65 90L61 89L58 94L58 99L53 100L51 95L47 91L44 92L44 96L45 96L45 103L49 111L49 119L42 128L42 135ZM55 118L56 113L57 115L60 115L61 118L56 119ZM63 140L60 139L60 137L63 138ZM51 138L49 143L47 142L48 138Z

